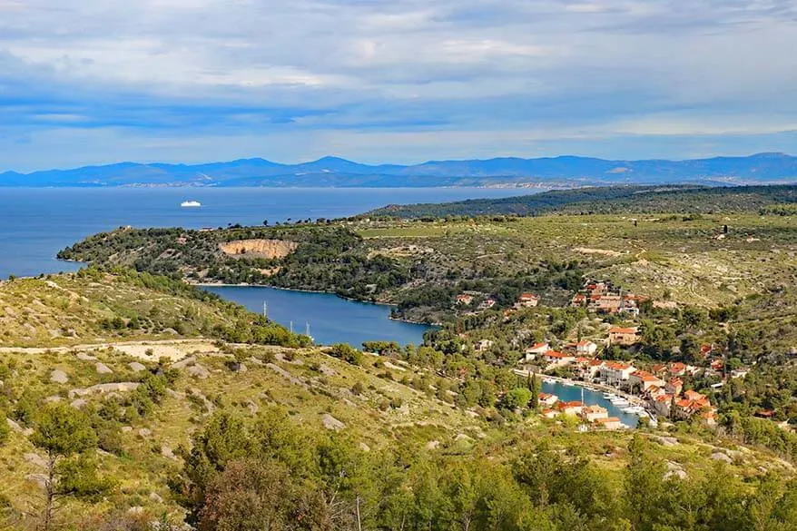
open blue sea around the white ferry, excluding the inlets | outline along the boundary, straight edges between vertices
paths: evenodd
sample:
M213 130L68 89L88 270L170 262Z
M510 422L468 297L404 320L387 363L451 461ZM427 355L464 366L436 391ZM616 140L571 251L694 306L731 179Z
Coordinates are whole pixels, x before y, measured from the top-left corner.
M74 270L55 253L96 232L220 227L339 218L389 203L449 202L523 193L483 188L0 188L0 277ZM187 200L202 208L180 208Z

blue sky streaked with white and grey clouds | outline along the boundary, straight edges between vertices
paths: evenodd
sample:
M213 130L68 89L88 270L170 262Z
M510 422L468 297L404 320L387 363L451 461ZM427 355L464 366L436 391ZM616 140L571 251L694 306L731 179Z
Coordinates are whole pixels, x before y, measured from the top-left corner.
M797 0L0 0L0 172L797 152Z

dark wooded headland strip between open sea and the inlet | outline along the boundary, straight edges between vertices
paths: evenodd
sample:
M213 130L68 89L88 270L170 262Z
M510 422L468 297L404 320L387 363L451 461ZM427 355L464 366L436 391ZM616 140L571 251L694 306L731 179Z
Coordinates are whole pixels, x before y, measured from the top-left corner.
M233 257L221 251L222 243L249 240L290 241L298 246L281 258ZM582 276L578 261L536 260L527 267L509 268L483 260L462 262L442 252L391 253L374 249L372 241L348 226L330 226L326 221L217 231L120 229L94 235L58 256L103 268L129 266L173 280L328 291L390 302L398 307L399 318L429 321L447 319L462 290L482 292L478 301L494 297L511 305L524 290L550 291L552 296L556 290L574 290Z

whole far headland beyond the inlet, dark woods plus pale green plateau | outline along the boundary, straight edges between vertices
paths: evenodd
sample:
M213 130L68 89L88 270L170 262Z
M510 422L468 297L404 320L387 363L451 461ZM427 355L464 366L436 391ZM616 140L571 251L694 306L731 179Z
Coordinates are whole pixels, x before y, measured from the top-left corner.
M762 202L769 196L788 201L790 193L764 192L769 195ZM623 208L622 200L607 204ZM475 305L492 299L497 308L508 308L521 292L534 291L544 304L562 306L585 277L614 280L654 300L715 307L786 285L794 275L792 218L754 211L363 217L219 231L122 229L76 243L59 256L193 282L325 290L389 302L398 306L399 317L431 322L472 310L456 304L463 291L480 293ZM252 239L296 247L272 259L229 256L219 247Z

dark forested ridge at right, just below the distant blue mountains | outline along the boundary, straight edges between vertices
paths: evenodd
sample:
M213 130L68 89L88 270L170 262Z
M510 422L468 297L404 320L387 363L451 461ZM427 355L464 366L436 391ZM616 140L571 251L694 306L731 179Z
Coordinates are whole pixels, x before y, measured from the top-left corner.
M795 186L607 186L543 192L501 199L388 205L364 215L392 218L518 215L544 213L720 213L753 212L797 202Z

